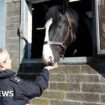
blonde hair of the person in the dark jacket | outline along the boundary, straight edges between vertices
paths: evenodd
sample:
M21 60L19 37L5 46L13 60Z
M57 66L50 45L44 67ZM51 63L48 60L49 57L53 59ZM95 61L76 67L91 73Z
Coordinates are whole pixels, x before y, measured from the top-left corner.
M5 62L8 57L8 51L5 48L0 48L0 65Z

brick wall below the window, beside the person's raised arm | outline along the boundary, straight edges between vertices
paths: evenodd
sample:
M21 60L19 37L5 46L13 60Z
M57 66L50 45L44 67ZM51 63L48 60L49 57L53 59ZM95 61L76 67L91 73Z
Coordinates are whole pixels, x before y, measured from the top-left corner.
M104 68L105 63L97 62L59 65L50 71L49 87L31 105L105 105ZM39 69L40 65L21 65L20 73L26 79Z

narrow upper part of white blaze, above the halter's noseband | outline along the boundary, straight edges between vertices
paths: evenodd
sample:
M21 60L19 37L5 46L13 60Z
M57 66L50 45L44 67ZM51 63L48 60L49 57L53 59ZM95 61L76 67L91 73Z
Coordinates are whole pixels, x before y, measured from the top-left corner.
M49 28L50 28L51 24L52 24L52 18L50 18L45 24L46 30L45 30L45 39L44 39L44 41L49 41Z

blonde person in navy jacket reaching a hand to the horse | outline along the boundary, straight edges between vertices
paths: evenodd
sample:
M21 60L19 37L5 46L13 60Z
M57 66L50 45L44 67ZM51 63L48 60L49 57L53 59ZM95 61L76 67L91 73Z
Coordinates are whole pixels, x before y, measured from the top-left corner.
M8 51L0 48L0 105L29 105L48 87L49 70L56 67L46 65L34 81L25 81L12 71Z

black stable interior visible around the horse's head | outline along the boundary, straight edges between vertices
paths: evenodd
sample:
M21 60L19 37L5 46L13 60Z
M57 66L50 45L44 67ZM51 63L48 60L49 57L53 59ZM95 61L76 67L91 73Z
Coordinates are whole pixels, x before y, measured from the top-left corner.
M92 17L86 15L92 11L92 0L81 0L78 2L69 3L69 7L75 9L79 14L79 28L77 40L70 45L65 53L65 57L71 56L93 56L92 44ZM33 4L33 24L32 24L32 55L31 58L42 57L42 47L45 37L45 30L37 30L44 27L45 14L47 9L53 5L62 5L62 0L46 1L38 4ZM87 25L89 23L89 25ZM90 30L91 29L91 30Z

